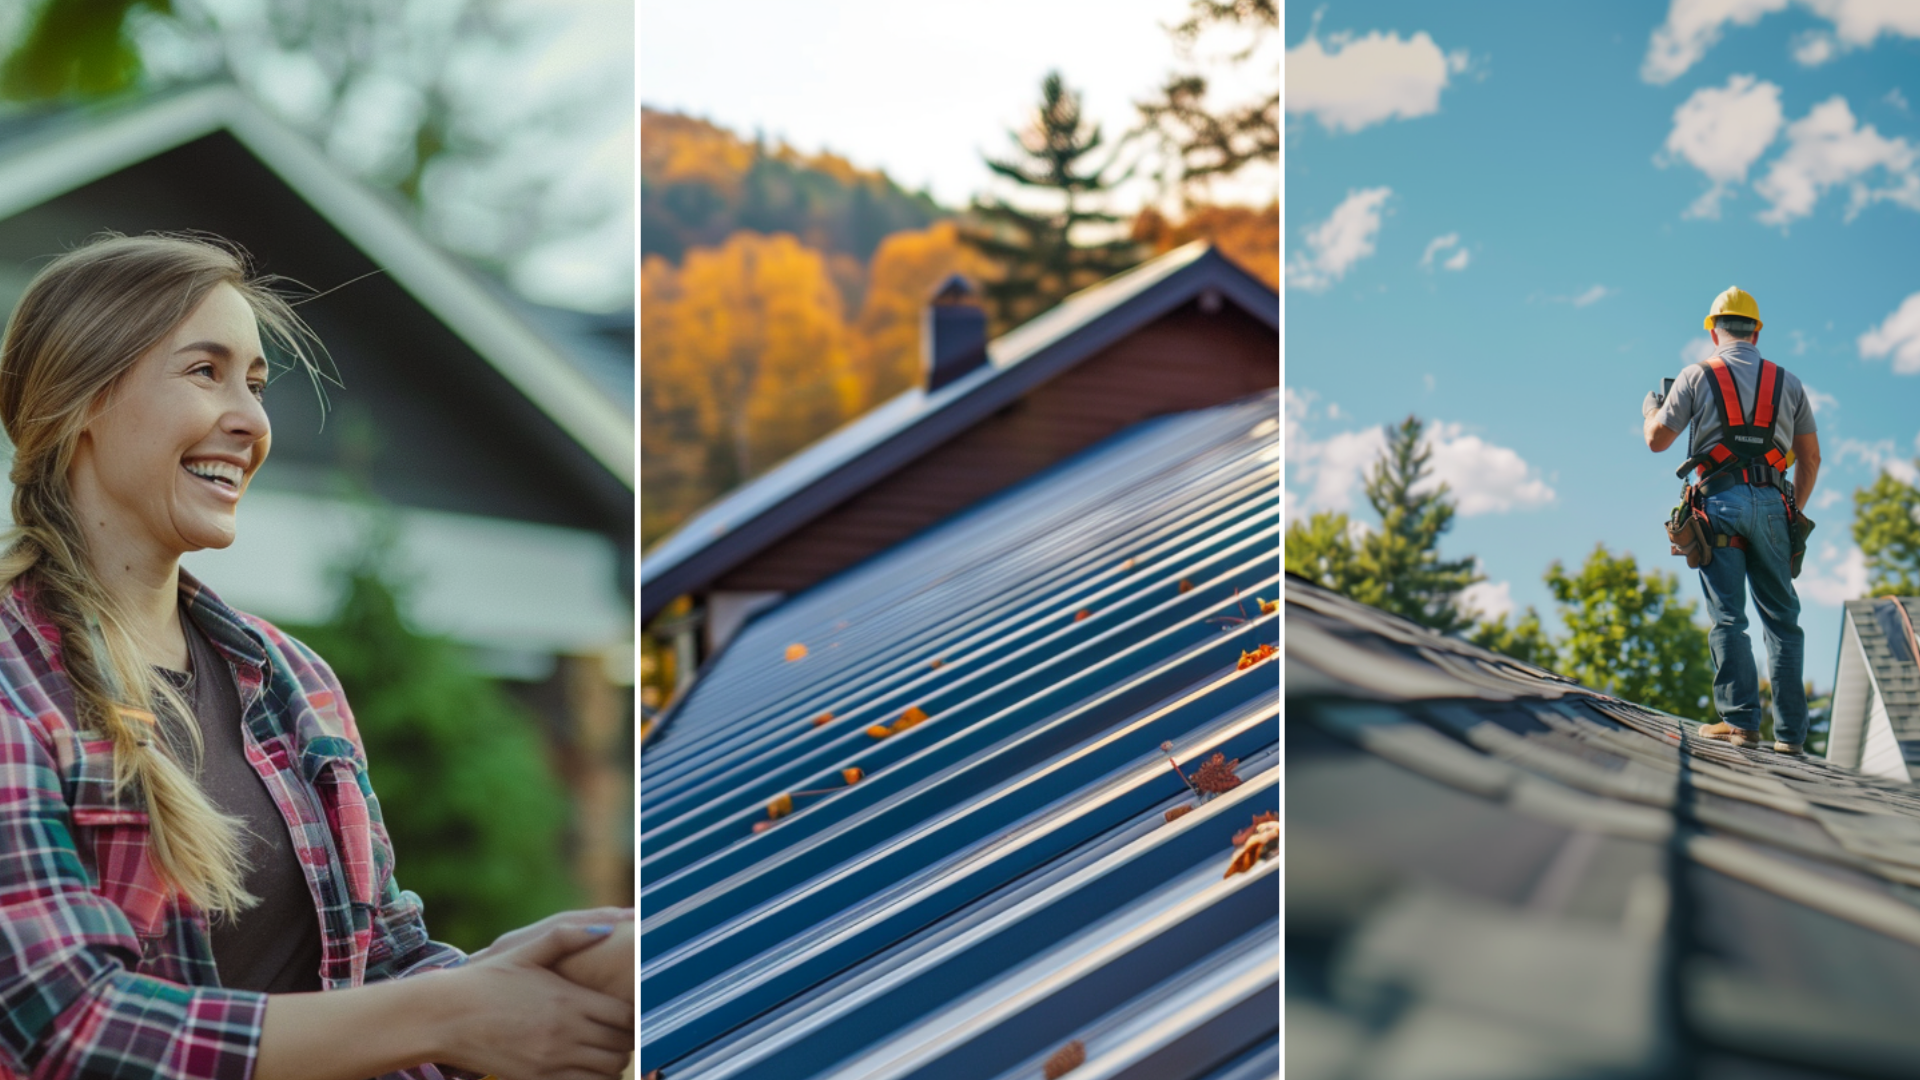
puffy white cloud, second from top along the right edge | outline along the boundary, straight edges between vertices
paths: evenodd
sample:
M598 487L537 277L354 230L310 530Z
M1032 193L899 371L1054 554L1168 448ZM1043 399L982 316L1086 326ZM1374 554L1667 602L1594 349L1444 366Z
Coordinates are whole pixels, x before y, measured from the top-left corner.
M1912 144L1885 138L1874 125L1855 125L1853 110L1839 94L1820 102L1805 117L1788 125L1788 150L1755 181L1772 206L1761 213L1766 225L1786 225L1812 213L1828 188L1847 184L1847 219L1874 202L1897 202L1920 209L1920 171ZM1889 183L1868 186L1862 177L1882 169Z

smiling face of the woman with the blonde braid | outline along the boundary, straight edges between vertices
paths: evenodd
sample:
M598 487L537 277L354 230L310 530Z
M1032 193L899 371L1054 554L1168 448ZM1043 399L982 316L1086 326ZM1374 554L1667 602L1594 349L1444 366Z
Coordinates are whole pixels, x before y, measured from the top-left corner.
M253 307L219 284L94 404L69 471L75 509L159 557L232 544L271 442L265 388Z

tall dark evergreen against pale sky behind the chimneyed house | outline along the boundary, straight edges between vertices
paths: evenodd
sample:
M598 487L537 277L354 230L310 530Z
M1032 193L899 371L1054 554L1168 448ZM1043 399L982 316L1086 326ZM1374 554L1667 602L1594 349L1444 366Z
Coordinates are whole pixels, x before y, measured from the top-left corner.
M995 175L1018 190L1044 196L1052 209L1023 209L1012 202L985 198L973 202L973 225L966 240L1002 267L985 282L987 307L995 331L1006 331L1060 304L1069 294L1125 271L1140 261L1140 248L1127 236L1085 240L1085 233L1121 219L1098 209L1104 194L1125 181L1114 175L1114 154L1094 165L1104 146L1100 125L1081 115L1079 94L1066 88L1058 71L1041 83L1041 108L1033 123L1010 133L1020 158L993 160Z

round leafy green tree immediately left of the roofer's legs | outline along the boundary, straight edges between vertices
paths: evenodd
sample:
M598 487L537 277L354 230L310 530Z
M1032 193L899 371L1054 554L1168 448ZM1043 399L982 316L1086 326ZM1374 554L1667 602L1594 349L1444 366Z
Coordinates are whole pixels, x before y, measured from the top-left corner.
M1563 675L1680 717L1709 711L1707 628L1693 623L1697 603L1680 603L1672 575L1642 575L1630 553L1597 544L1576 575L1555 559L1546 582L1567 626L1557 650Z

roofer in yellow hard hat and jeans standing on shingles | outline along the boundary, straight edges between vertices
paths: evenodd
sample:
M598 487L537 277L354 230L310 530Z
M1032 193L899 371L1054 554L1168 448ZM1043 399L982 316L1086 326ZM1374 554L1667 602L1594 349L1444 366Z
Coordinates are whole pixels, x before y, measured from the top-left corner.
M1772 361L1761 359L1761 307L1753 296L1728 288L1707 311L1713 357L1690 365L1672 390L1647 394L1647 448L1655 454L1672 446L1692 425L1688 463L1693 488L1690 503L1705 515L1711 534L1699 584L1707 594L1713 628L1713 707L1720 723L1699 734L1734 746L1761 744L1761 692L1747 642L1747 582L1753 605L1766 628L1766 655L1774 684L1774 749L1803 753L1807 742L1807 690L1801 682L1803 634L1799 596L1793 577L1795 523L1799 507L1812 496L1820 471L1820 438L1814 434L1812 405L1801 380ZM1788 484L1786 469L1793 469ZM1807 523L1799 523L1805 546ZM1695 565L1693 557L1688 565Z

